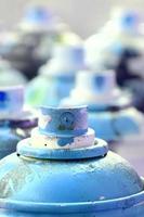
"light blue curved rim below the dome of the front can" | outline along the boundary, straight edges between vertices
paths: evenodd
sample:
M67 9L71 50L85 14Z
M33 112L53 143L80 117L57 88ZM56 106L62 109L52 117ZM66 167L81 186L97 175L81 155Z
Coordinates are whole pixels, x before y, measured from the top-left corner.
M144 178L142 178L144 182ZM135 205L144 206L144 190L129 196L107 201L81 202L81 203L36 203L27 201L14 201L0 199L0 209L30 213L89 213L112 209L130 208Z

